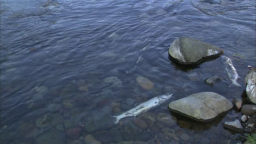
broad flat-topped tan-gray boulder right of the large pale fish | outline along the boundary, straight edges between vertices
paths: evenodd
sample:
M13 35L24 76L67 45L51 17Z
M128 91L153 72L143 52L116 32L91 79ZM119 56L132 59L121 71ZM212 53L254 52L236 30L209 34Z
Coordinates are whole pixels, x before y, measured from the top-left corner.
M230 110L233 104L214 92L200 92L173 101L168 108L198 121L211 121L223 112Z

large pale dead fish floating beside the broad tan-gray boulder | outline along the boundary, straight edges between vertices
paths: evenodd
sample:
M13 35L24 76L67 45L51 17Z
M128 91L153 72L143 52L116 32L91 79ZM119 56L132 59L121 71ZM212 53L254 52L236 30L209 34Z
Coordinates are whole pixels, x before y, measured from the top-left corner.
M169 100L171 97L172 97L172 94L169 94L169 93L160 95L160 96L156 96L146 102L143 102L142 104L139 104L135 108L132 108L132 109L128 110L127 112L120 114L119 116L112 116L112 117L114 117L114 123L117 124L120 119L128 117L128 116L134 116L134 117L138 116L142 112L146 112L146 111L162 104L166 100Z

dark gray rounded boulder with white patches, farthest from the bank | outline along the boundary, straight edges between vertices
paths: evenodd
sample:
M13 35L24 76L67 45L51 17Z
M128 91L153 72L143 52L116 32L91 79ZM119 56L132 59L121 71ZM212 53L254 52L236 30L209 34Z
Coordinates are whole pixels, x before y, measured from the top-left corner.
M197 64L204 58L217 57L224 53L224 50L188 37L175 39L169 48L169 55L180 64Z

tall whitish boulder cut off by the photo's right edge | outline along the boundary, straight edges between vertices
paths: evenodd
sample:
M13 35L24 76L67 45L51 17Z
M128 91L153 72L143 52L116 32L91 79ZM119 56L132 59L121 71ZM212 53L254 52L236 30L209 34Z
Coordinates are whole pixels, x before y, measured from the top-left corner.
M256 70L253 68L248 72L248 74L245 76L244 81L246 85L246 94L247 99L250 103L256 104L256 95L255 95L255 89L256 89Z

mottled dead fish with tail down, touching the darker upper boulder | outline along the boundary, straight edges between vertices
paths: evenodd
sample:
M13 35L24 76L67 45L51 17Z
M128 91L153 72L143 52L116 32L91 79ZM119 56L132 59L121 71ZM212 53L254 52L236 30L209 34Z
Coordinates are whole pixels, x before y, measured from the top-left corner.
M233 86L241 86L240 84L238 84L238 82L236 82L236 80L240 77L238 76L236 69L233 66L231 60L226 56L222 56L222 60L225 65L225 70L228 73L228 77L230 78L230 80L232 82L232 84L230 84L228 87L231 88Z

